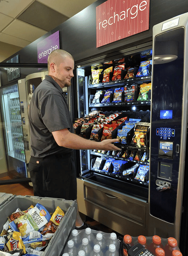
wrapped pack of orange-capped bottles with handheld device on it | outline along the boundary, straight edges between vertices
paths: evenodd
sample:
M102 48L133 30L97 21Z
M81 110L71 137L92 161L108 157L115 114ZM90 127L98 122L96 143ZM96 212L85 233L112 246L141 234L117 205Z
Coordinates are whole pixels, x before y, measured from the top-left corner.
M157 235L132 237L125 235L120 245L120 256L182 256L175 238Z

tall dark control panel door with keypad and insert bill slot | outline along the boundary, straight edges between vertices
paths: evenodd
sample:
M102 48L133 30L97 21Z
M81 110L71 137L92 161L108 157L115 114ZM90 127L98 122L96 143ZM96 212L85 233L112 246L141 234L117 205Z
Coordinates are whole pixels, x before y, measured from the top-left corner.
M180 241L186 161L188 13L153 27L148 235ZM186 225L186 222L183 224Z

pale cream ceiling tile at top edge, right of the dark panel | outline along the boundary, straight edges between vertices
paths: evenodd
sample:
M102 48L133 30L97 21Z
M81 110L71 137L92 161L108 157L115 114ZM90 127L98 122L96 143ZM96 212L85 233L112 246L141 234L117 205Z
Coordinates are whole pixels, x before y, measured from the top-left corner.
M38 0L38 2L41 2L44 5L49 6L50 8L64 14L67 17L72 17L78 12L85 9L87 6L96 2L96 0Z

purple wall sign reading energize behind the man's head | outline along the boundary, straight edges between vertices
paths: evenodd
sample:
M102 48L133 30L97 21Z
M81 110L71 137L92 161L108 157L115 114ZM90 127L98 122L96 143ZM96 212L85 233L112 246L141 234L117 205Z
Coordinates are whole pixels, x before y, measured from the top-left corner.
M37 44L38 63L47 63L49 54L56 49L59 49L59 31Z

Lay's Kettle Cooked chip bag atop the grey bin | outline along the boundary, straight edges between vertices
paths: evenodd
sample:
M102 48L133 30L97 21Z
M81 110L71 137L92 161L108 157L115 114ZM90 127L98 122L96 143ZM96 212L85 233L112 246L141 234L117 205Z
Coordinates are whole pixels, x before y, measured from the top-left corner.
M37 203L35 207L30 209L25 215L10 222L9 225L12 229L15 229L16 226L21 233L21 236L24 236L34 230L38 231L47 222L49 222L50 218L50 213L46 208Z

